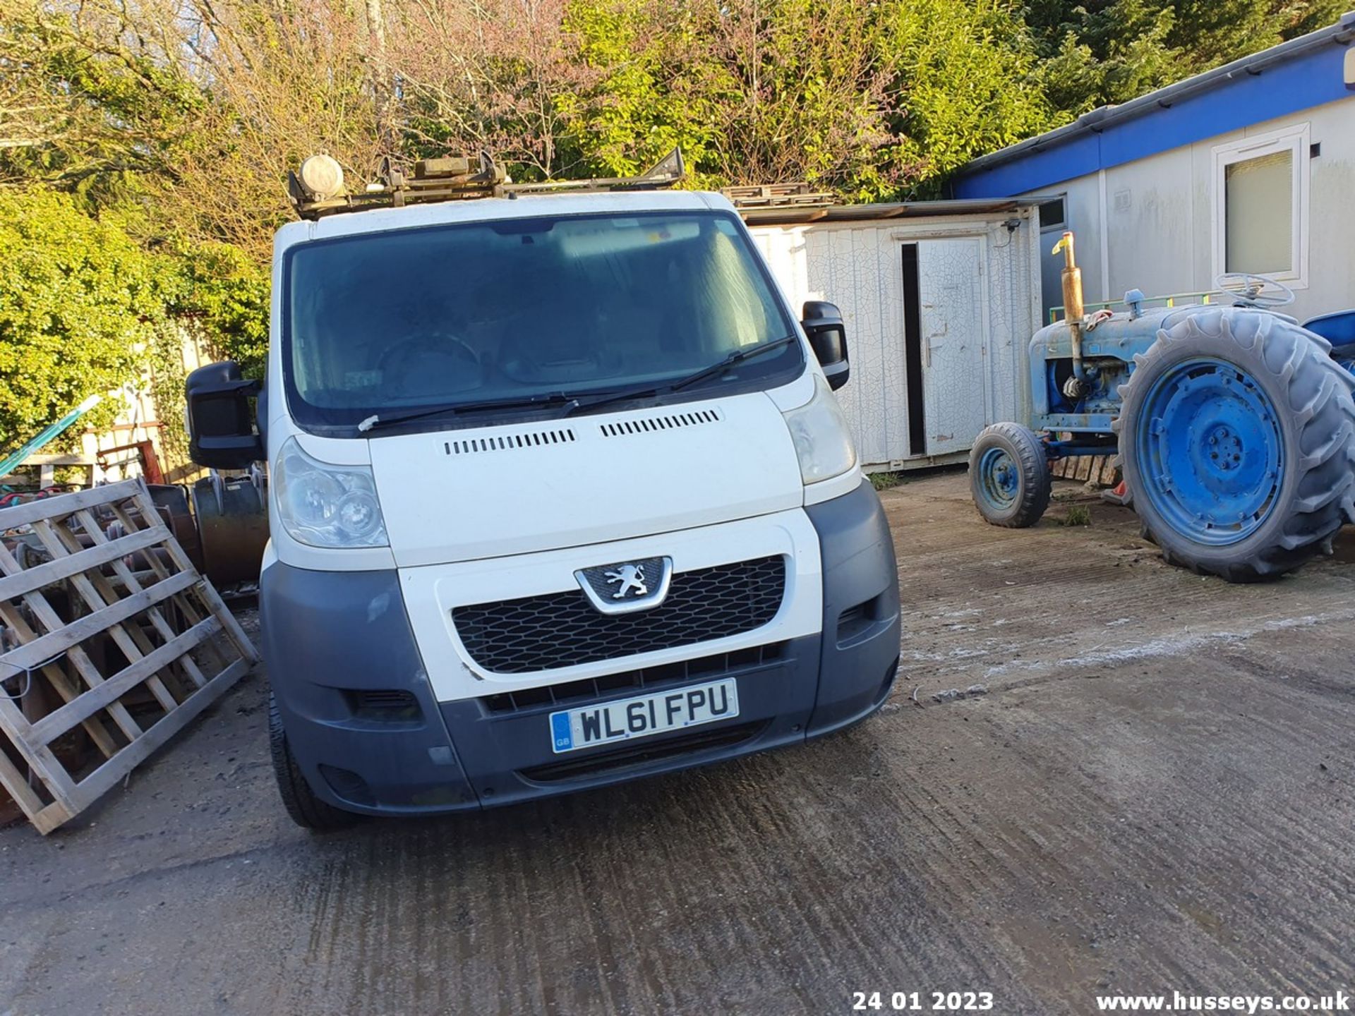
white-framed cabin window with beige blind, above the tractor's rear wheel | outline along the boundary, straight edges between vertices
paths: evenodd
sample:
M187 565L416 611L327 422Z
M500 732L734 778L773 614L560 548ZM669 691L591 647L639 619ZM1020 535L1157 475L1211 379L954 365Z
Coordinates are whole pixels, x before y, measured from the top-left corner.
M1308 125L1213 149L1214 274L1308 284Z

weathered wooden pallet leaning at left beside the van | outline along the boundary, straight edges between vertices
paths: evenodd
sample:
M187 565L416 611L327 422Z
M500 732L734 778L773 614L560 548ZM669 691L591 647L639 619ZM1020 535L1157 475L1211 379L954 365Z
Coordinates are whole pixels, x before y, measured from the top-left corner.
M100 519L122 535L106 535ZM18 642L0 653L0 786L50 833L259 656L140 480L0 509L7 531L30 534L50 559L24 570L0 545L0 625ZM77 775L58 750L81 737L103 759Z

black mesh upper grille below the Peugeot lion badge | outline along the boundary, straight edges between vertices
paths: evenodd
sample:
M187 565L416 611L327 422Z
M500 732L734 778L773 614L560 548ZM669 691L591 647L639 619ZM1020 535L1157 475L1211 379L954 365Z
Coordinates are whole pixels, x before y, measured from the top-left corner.
M646 611L600 614L581 589L457 607L453 623L470 658L493 673L535 673L741 635L780 610L780 555L673 574L668 597Z

